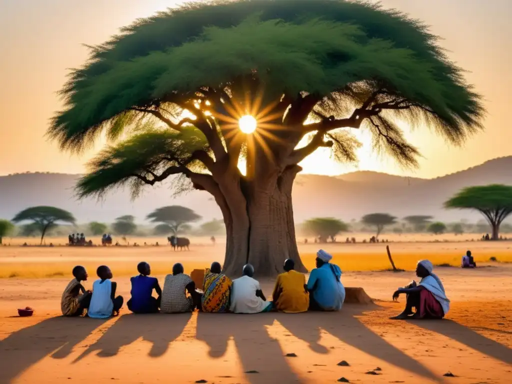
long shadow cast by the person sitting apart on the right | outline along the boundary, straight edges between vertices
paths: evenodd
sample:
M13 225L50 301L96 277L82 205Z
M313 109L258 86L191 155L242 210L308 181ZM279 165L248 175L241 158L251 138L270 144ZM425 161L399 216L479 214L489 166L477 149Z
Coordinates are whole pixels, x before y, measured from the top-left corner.
M411 321L411 324L449 337L457 342L473 348L484 355L494 357L505 364L512 364L512 349L495 342L480 333L454 322L443 319L442 321Z

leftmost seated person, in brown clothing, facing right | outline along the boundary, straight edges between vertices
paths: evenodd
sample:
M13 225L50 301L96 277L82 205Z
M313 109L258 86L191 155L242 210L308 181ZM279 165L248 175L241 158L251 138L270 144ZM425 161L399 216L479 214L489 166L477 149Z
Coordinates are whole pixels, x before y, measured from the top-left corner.
M81 316L91 303L91 291L86 291L80 284L89 277L84 267L77 265L73 268L74 279L62 293L60 310L63 316Z

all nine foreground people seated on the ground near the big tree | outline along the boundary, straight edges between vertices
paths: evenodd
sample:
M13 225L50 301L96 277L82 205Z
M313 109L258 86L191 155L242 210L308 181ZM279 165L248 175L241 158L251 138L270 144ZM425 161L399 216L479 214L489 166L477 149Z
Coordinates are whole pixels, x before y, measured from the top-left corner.
M204 276L203 290L197 289L183 265L173 266L173 273L165 276L163 289L157 278L150 276L150 265L141 262L137 266L139 275L131 278L131 298L126 303L134 313L184 313L196 308L203 312L217 313L263 313L280 311L300 313L306 311L338 311L345 300L345 288L340 282L342 271L330 263L332 256L319 250L316 268L306 276L295 271L295 263L287 259L284 272L278 276L267 300L260 283L254 279L254 268L246 264L242 276L231 281L222 273L220 263L214 262ZM444 287L432 272L432 263L424 260L418 263L416 275L422 280L414 281L393 294L396 300L401 293L407 295L406 309L396 319L442 318L449 309ZM97 269L98 280L93 290L86 291L81 285L88 274L82 266L73 269L74 279L62 294L61 310L65 316L81 316L86 313L93 318L106 318L119 314L123 297L116 296L117 284L112 282L112 271L107 266ZM153 291L157 297L153 296ZM413 312L412 308L416 311Z

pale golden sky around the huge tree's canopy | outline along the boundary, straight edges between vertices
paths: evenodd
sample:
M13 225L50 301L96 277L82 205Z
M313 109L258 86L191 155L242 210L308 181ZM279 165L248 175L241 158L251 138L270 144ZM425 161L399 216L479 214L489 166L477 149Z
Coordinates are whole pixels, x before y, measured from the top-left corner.
M93 153L60 153L44 134L61 108L56 95L68 68L80 66L88 51L137 17L173 6L174 0L0 0L0 175L40 171L82 173ZM444 38L451 58L470 71L467 79L485 98L486 131L463 148L448 147L428 130L409 132L423 158L420 168L403 171L392 160L372 154L369 137L359 151L358 169L417 177L437 177L512 155L512 14L510 0L383 0L424 20ZM98 146L99 148L99 146ZM354 170L335 164L319 150L302 164L304 172L336 175Z

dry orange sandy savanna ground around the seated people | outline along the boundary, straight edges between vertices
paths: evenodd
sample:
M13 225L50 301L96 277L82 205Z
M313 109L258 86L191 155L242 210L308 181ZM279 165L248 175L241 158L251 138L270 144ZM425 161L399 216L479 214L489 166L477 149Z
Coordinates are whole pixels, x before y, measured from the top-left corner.
M121 316L105 321L59 316L60 295L74 265L88 268L86 288L96 267L109 265L127 300L128 276L136 274L139 261L151 263L162 284L175 262L187 271L222 262L223 244L191 239L190 251L174 252L161 239L92 248L21 247L14 244L37 240L12 239L11 246L0 247L0 383L326 383L342 377L353 383L512 382L512 242L435 239L397 242L389 236L396 266L407 270L396 273L386 270L383 244L323 245L342 267L344 285L363 287L373 305L296 315L133 315L124 308ZM156 241L160 246L151 245ZM308 268L317 247L299 246ZM414 278L417 260L455 266L467 249L481 267L436 268L452 300L446 319L388 319L404 304L402 296L393 303L391 294ZM491 257L499 262L488 262ZM273 281L261 283L269 296ZM35 309L34 316L17 317L16 309L25 306ZM350 366L338 366L342 360ZM455 377L443 376L449 371Z

